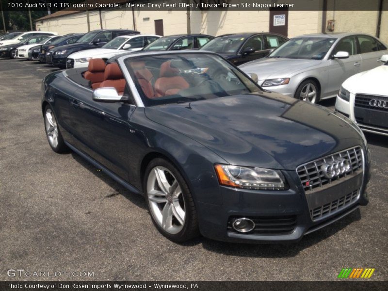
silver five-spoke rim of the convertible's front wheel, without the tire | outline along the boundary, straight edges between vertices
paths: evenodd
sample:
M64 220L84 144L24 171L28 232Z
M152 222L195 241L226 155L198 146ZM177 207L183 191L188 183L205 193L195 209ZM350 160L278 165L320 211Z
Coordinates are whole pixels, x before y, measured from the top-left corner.
M165 167L154 167L148 175L149 209L156 223L166 232L176 234L185 224L186 208L178 180Z

